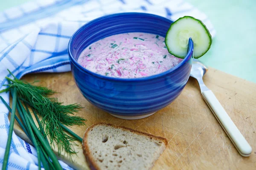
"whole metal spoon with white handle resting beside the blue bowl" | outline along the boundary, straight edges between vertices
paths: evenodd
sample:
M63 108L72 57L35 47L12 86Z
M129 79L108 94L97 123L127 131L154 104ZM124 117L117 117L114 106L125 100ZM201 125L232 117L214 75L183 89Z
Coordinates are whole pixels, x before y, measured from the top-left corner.
M221 103L218 101L212 91L209 90L206 85L204 85L203 76L207 70L208 68L199 62L199 60L193 59L190 76L197 79L205 102L227 133L227 136L235 145L238 152L241 154L241 156L250 156L252 153L252 147L250 147L250 144L248 144L234 122L230 119L227 112L221 106Z

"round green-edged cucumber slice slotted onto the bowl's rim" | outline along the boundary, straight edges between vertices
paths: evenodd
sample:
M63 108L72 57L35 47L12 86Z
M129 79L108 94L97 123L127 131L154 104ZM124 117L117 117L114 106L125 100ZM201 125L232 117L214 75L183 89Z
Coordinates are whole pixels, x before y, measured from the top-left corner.
M194 58L202 57L212 44L212 36L201 20L190 16L179 18L167 31L165 43L169 53L186 57L190 37L194 42Z

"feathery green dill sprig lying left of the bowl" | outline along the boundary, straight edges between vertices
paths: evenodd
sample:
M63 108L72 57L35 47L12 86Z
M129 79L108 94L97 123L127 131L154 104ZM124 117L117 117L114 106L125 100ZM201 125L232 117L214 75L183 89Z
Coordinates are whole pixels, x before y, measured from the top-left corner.
M68 154L76 153L73 144L76 144L74 141L77 138L65 133L64 130L67 131L67 129L64 128L64 125L85 125L84 122L86 119L73 116L74 112L79 111L82 107L79 104L62 105L63 103L58 102L57 98L49 97L55 94L55 91L46 87L33 85L33 83L30 84L17 79L14 75L12 76L14 79L6 77L12 83L7 85L8 87L3 91L16 89L18 98L25 104L28 104L41 116L41 126L39 129L40 131L44 130L43 135L44 137L49 137L50 144L57 144L58 154L63 150ZM0 93L3 91L0 91ZM55 147L55 145L52 146Z

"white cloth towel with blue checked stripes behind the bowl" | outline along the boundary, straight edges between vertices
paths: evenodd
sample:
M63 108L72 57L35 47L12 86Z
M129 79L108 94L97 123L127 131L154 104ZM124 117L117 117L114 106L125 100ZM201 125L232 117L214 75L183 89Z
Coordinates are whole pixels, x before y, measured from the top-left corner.
M27 73L70 71L67 44L82 25L97 17L119 12L146 12L177 20L190 15L202 20L212 36L207 16L183 0L33 0L0 13L0 90L10 77ZM9 94L0 94L9 102ZM0 101L0 166L9 130L8 110ZM34 147L15 133L8 168L37 169ZM60 161L61 162L61 161ZM63 162L64 169L72 169Z

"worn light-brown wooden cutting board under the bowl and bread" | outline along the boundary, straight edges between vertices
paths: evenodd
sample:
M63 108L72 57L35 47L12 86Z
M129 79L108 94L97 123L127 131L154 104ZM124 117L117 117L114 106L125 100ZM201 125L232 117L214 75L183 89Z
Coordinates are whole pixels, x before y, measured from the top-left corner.
M88 121L87 126L72 127L83 137L84 131L96 122L107 122L165 137L168 147L157 160L154 170L183 169L256 169L256 84L210 68L204 82L213 91L230 118L253 148L250 157L242 157L221 128L204 102L195 79L190 78L180 96L166 108L139 120L113 117L87 102L79 92L72 74L30 74L23 77L33 82L37 77L40 85L61 92L56 94L64 104L81 103L84 107L77 115ZM15 133L26 139L20 127ZM86 169L81 144L72 159L61 159L71 167Z

